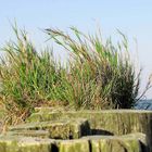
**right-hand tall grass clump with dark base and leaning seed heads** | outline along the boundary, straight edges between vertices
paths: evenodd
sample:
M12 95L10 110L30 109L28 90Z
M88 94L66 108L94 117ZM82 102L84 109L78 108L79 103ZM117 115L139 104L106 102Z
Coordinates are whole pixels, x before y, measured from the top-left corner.
M129 55L127 38L114 47L104 45L99 34L85 35L72 27L75 38L56 29L46 29L51 38L72 54L67 77L76 107L130 109L137 101L140 72L137 74Z

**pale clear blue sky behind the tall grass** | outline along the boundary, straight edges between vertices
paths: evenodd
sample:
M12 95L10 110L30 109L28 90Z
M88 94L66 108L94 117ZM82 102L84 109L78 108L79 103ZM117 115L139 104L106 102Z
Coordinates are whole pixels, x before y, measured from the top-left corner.
M0 47L14 38L14 21L28 31L37 47L46 45L48 37L42 29L49 27L68 31L76 26L93 33L100 26L103 38L112 36L114 41L119 29L128 37L130 51L138 48L141 92L152 73L152 0L0 0ZM62 51L59 54L62 59L65 55ZM152 90L147 98L152 98Z

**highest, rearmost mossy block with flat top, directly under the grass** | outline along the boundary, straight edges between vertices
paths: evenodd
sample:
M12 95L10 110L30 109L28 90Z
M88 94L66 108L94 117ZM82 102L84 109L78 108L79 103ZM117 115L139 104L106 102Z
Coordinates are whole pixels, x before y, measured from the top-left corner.
M142 132L152 151L152 111L102 110L67 111L62 109L37 107L27 122L43 122L61 118L87 118L92 135L127 135Z

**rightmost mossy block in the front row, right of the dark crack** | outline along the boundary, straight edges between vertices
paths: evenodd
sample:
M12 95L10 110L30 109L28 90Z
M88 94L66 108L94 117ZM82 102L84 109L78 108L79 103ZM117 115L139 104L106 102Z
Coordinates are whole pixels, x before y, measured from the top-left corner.
M145 135L88 136L92 152L147 152Z

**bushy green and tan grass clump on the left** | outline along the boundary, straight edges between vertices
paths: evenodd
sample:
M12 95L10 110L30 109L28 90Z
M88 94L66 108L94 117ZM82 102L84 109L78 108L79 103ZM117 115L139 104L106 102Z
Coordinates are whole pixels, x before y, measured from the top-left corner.
M14 31L17 40L5 45L0 64L0 96L11 124L24 119L35 106L49 104L61 71L64 73L50 50L38 53L25 31L16 27Z

